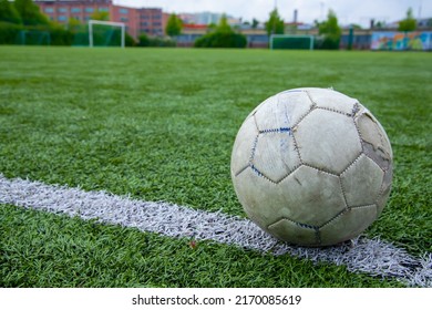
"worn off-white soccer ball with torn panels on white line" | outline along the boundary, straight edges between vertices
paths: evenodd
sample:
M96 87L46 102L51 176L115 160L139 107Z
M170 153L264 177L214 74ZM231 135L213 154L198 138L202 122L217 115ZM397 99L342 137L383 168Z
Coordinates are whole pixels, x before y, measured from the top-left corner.
M356 99L295 89L246 117L230 173L240 204L260 228L290 244L330 246L360 235L381 214L392 149Z

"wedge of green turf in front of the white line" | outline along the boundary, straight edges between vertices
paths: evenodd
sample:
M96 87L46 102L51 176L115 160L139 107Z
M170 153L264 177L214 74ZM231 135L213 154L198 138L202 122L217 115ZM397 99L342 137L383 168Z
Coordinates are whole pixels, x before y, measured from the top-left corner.
M0 207L0 287L401 287L215 242ZM23 229L25 228L25 229ZM8 236L8 237L6 237ZM335 279L337 277L337 279Z

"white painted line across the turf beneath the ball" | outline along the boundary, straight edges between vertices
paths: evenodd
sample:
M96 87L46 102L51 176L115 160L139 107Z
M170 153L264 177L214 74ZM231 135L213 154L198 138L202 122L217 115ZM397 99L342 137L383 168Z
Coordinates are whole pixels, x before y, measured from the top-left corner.
M323 249L295 247L278 241L248 219L222 213L20 178L7 179L1 174L0 204L99 219L169 237L213 240L274 255L289 254L315 262L343 265L352 272L397 278L407 286L432 287L432 254L416 258L380 239L360 237L350 244Z

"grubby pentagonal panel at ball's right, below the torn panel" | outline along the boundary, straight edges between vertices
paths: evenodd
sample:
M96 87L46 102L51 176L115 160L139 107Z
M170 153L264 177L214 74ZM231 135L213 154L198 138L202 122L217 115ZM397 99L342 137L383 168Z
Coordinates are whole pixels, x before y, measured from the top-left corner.
M372 159L361 155L340 176L348 206L374 204L381 192L383 176L383 170Z

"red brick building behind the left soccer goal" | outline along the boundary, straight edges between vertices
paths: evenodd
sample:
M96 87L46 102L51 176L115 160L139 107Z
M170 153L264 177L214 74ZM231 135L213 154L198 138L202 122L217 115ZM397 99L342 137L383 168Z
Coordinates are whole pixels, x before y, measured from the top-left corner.
M126 24L126 32L133 38L141 33L152 37L164 34L165 23L161 8L130 8L113 4L112 0L35 0L41 12L60 24L71 19L86 23L97 12L109 13L110 21Z

